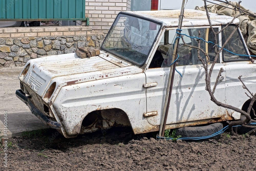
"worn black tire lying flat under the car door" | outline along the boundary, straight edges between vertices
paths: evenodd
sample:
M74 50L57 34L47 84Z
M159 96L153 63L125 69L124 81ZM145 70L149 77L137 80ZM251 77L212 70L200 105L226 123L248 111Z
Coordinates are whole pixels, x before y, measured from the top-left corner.
M181 137L203 137L203 136L209 136L212 135L220 130L223 129L223 124L213 123L206 126L187 126L176 129L176 136L181 135ZM222 134L222 133L221 133ZM216 135L211 138L203 139L203 140L196 140L196 141L207 141L207 140L219 140L221 137L221 134ZM194 140L188 140L188 141L194 141Z

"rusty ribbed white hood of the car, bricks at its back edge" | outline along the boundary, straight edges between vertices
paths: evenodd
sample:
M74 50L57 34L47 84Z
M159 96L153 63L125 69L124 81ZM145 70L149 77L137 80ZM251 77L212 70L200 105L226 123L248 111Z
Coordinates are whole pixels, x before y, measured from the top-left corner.
M84 59L73 53L37 58L29 62L30 68L21 81L40 97L54 81L57 85L70 85L143 72L142 69L104 52L99 56Z

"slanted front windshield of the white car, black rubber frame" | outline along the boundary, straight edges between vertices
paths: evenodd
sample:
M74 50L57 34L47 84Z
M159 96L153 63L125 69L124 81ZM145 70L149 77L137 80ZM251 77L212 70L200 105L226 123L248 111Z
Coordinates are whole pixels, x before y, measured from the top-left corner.
M102 44L102 49L137 66L142 66L147 60L160 28L160 24L119 14Z

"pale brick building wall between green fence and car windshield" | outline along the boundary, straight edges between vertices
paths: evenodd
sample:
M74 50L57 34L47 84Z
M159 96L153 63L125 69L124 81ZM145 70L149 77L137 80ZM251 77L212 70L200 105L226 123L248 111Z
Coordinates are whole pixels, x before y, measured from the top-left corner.
M85 5L85 14L90 18L90 27L93 30L102 30L106 35L117 14L126 11L127 0L86 0Z

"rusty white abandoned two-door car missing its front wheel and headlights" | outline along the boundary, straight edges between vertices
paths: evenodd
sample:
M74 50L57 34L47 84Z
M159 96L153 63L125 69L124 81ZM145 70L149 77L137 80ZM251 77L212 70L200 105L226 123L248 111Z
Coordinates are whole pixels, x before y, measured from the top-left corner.
M179 15L180 10L120 12L100 55L82 59L73 53L29 60L16 95L42 122L67 138L113 126L131 126L134 134L158 131L171 64L166 54L173 49ZM185 10L184 17L182 34L198 37L200 31L201 38L214 41L205 12ZM213 13L210 17L215 30L232 20ZM238 23L235 19L218 35L219 46ZM184 36L184 40L198 45L196 39ZM210 66L214 46L202 41L201 48L210 56ZM238 77L242 75L246 86L255 89L256 64L239 29L225 48L245 56L222 51L211 79L214 86L220 68L224 69L215 97L246 109L249 98ZM179 73L175 72L165 129L217 123L214 127L219 131L221 122L239 120L240 113L210 100L197 50L180 41L178 54Z

